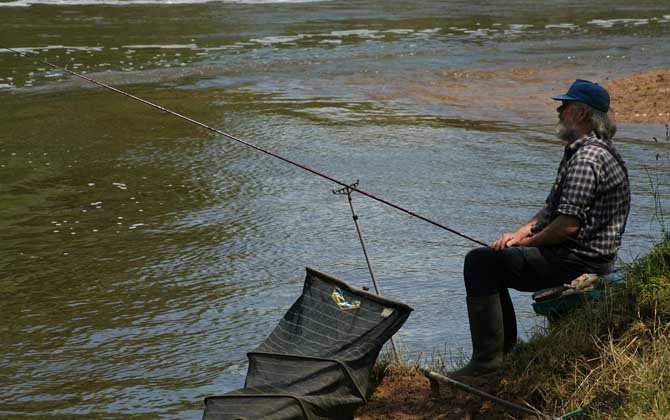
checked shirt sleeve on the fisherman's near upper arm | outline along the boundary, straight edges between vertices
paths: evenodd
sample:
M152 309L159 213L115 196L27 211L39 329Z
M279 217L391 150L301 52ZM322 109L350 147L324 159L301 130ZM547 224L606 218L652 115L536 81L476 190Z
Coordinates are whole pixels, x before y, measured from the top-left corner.
M601 165L588 156L575 156L568 163L563 190L558 202L558 213L574 216L582 226L593 206Z

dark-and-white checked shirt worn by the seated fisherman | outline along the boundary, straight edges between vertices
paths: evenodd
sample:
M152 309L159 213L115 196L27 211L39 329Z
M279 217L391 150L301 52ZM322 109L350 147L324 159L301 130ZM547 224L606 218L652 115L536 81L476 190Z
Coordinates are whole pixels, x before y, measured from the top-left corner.
M547 227L559 214L574 216L581 228L565 247L585 257L614 259L629 210L625 164L609 140L591 134L565 147L543 217L531 234Z

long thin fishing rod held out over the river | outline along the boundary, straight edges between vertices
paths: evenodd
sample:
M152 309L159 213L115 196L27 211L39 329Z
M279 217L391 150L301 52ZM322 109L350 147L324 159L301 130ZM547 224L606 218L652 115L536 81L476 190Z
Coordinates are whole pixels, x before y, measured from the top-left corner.
M17 51L17 50L15 50L15 49L12 49L12 48L9 48L9 47L4 47L4 46L3 46L3 47L0 47L0 48L5 49L5 50L8 50L8 51L11 51L11 52L13 52L13 53L15 53L15 54L18 54L20 57L26 57L26 55L25 55L24 53L22 53L22 52L20 52L20 51ZM331 182L333 182L333 183L335 183L335 184L337 184L337 185L339 185L339 186L341 186L341 187L349 188L351 191L355 191L355 192L357 192L357 193L359 193L359 194L362 194L362 195L364 195L364 196L366 196L366 197L368 197L368 198L371 198L372 200L375 200L375 201L377 201L377 202L380 202L380 203L382 203L382 204L385 204L385 205L387 205L387 206L389 206L389 207L393 207L393 208L396 209L396 210L399 210L399 211L401 211L401 212L403 212L403 213L405 213L405 214L408 214L408 215L410 215L410 216L412 216L412 217L415 217L415 218L417 218L417 219L423 220L424 222L428 222L428 223L430 223L430 224L433 225L433 226L437 226L437 227L439 227L439 228L442 228L442 229L446 230L447 232L453 233L454 235L460 236L461 238L467 239L467 240L469 240L469 241L471 241L471 242L474 242L474 243L476 243L476 244L478 244L478 245L488 246L488 244L486 244L486 243L484 243L484 242L482 242L482 241L480 241L480 240L477 240L477 239L475 239L475 238L473 238L473 237L471 237L471 236L468 236L468 235L465 235L465 234L463 234L463 233L461 233L461 232L458 232L458 231L455 230L455 229L452 229L452 228L450 228L450 227L448 227L448 226L445 226L445 225L443 225L443 224L441 224L441 223L438 223L438 222L436 222L436 221L434 221L434 220L431 220L431 219L429 219L429 218L427 218L427 217L421 216L420 214L418 214L418 213L416 213L416 212L414 212L414 211L408 210L408 209L406 209L406 208L404 208L404 207L401 207L401 206L399 206L399 205L397 205L397 204L391 203L390 201L387 201L387 200L385 200L385 199L383 199L383 198L381 198L381 197L377 197L376 195L371 194L371 193L369 193L369 192L367 192L367 191L361 190L361 189L358 188L358 187L351 186L351 185L349 185L349 184L347 184L347 183L345 183L345 182L343 182L343 181L340 181L340 180L338 180L338 179L335 179L335 178L333 178L333 177L331 177L331 176L329 176L329 175L326 175L326 174L324 174L324 173L322 173L322 172L319 172L319 171L317 171L317 170L315 170L315 169L309 168L309 167L307 167L307 166L305 166L305 165L303 165L303 164L301 164L301 163L298 163L298 162L293 161L293 160L291 160L291 159L285 158L285 157L283 157L283 156L281 156L281 155L278 155L278 154L276 154L276 153L273 153L273 152L271 152L271 151L269 151L269 150L267 150L267 149L263 149L263 148L261 148L261 147L259 147L259 146L256 146L256 145L252 144L252 143L249 143L249 142L247 142L247 141L244 141L244 140L242 140L242 139L240 139L240 138L238 138L238 137L236 137L236 136L233 136L232 134L228 134L228 133L223 132L223 131L221 131L221 130L218 130L218 129L214 128L214 127L210 127L209 125L207 125L207 124L205 124L205 123L202 123L202 122L200 122L200 121L194 120L193 118L187 117L187 116L182 115L182 114L180 114L180 113L178 113L178 112L175 112L175 111L172 111L172 110L170 110L170 109L168 109L168 108L165 108L165 107L163 107L163 106L157 105L157 104L155 104L155 103L153 103L153 102L150 102L150 101L148 101L148 100L146 100L146 99L142 99L142 98L140 98L140 97L138 97L138 96L132 95L132 94L127 93L127 92L124 92L124 91L122 91L122 90L120 90L120 89L117 89L117 88L115 88L115 87L113 87L113 86L110 86L110 85L108 85L108 84L99 82L99 81L97 81L97 80L95 80L95 79L92 79L92 78L90 78L90 77L84 76L83 74L80 74L80 73L74 72L74 71L72 71L72 70L69 70L69 69L67 69L67 68L65 68L65 67L61 67L61 66L59 66L59 65L53 64L53 63L51 63L50 61L48 61L48 60L46 60L46 59L44 59L44 58L39 58L39 59L40 59L44 64L46 64L46 65L48 65L48 66L50 66L50 67L52 67L52 68L55 68L55 69L64 71L64 72L66 72L66 73L68 73L68 74L70 74L70 75L72 75L72 76L75 76L75 77L78 77L78 78L80 78L80 79L86 80L86 81L91 82L91 83L93 83L93 84L95 84L95 85L98 85L98 86L103 87L103 88L105 88L105 89L111 90L112 92L121 94L121 95L126 96L126 97L128 97L128 98L131 98L131 99L133 99L133 100L135 100L135 101L141 102L141 103L143 103L143 104L145 104L145 105L148 105L148 106L151 106L151 107L153 107L153 108L156 108L156 109L158 109L158 110L160 110L160 111L166 112L166 113L168 113L168 114L170 114L170 115L174 115L175 117L181 118L181 119L183 119L183 120L185 120L185 121L190 122L191 124L194 124L194 125L197 125L197 126L199 126L199 127L205 128L205 129L207 129L207 130L209 130L209 131L211 131L211 132L220 134L220 135L222 135L222 136L224 136L224 137L226 137L226 138L228 138L228 139L230 139L230 140L236 141L236 142L238 142L238 143L240 143L240 144L243 144L243 145L245 145L245 146L247 146L247 147L250 147L250 148L252 148L252 149L254 149L254 150L258 151L258 152L261 152L261 153L264 153L264 154L266 154L266 155L272 156L272 157L274 157L274 158L276 158L276 159L279 159L279 160L281 160L281 161L284 161L284 162L286 162L286 163L288 163L288 164L290 164L290 165L296 166L296 167L298 167L298 168L300 168L300 169L303 169L303 170L305 170L305 171L307 171L307 172L310 172L310 173L312 173L312 174L314 174L314 175L320 176L321 178L327 179L328 181L331 181Z

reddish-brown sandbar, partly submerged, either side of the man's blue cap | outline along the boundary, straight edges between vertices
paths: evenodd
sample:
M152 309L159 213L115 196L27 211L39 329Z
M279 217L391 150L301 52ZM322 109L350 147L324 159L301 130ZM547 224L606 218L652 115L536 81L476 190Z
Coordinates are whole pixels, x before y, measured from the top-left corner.
M498 121L552 121L556 101L577 74L565 69L444 70L413 80L397 80L375 95L376 99L411 98L426 105L446 105L447 116L476 116ZM667 124L670 122L670 70L642 72L617 79L592 79L612 97L619 123Z

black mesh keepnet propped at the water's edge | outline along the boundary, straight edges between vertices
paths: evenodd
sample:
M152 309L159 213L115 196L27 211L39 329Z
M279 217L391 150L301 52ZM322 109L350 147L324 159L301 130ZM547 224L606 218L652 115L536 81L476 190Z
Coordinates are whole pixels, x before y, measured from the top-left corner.
M302 295L248 354L244 388L206 398L203 419L353 419L383 344L411 311L307 268Z

